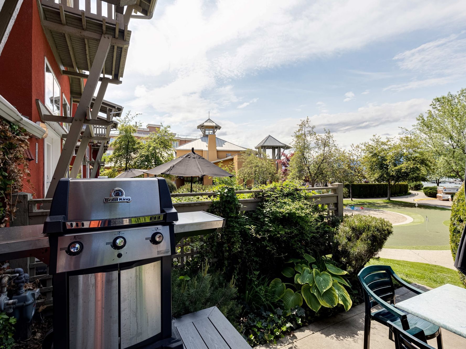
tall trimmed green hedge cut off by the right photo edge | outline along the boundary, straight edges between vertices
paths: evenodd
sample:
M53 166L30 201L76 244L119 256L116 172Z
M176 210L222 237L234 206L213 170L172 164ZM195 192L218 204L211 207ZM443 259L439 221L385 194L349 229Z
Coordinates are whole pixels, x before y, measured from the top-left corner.
M450 216L450 249L452 250L453 259L456 258L458 251L459 239L463 234L466 221L466 203L464 184L459 188L458 193L453 197L452 215ZM461 282L466 286L466 276L458 271Z

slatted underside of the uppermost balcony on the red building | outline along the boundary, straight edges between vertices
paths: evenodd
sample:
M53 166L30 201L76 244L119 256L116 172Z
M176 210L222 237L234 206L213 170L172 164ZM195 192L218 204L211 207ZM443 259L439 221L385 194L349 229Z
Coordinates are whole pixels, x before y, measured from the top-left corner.
M88 13L50 0L41 0L39 14L44 32L58 64L72 71L89 71L103 34L111 35L103 73L123 77L131 31L119 21ZM76 80L76 79L73 79ZM74 81L73 81L74 85Z

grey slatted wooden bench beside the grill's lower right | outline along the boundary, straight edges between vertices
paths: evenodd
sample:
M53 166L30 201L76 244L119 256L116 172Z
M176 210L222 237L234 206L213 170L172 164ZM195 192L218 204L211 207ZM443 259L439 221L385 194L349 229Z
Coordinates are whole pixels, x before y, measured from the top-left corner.
M217 307L173 320L185 349L251 349Z

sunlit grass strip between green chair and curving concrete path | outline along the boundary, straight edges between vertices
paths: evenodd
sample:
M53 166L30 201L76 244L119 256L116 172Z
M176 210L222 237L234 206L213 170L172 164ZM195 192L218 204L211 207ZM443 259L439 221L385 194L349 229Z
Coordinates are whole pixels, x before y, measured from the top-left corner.
M441 267L439 265L398 261L395 259L371 259L367 265L390 265L391 268L406 282L416 282L421 285L436 288L445 283L450 283L459 287L464 285L459 280L456 270Z

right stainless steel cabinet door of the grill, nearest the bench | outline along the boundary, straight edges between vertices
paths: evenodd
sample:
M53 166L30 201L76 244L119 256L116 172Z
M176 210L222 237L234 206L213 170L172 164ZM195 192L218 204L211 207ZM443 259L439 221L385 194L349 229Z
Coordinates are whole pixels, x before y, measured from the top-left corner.
M161 331L160 261L120 271L121 348Z

